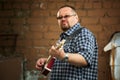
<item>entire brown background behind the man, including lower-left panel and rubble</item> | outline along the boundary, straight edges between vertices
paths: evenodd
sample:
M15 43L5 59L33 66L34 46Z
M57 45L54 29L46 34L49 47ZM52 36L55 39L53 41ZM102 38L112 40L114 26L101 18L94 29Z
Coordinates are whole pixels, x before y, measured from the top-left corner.
M65 4L97 38L98 80L111 80L110 51L103 48L120 31L120 0L0 0L0 80L47 79L35 64L58 39L56 13Z

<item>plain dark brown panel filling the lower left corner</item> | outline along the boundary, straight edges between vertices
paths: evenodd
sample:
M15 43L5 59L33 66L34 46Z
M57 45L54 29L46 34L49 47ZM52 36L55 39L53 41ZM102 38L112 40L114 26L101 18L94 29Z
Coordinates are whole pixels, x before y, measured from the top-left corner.
M0 59L0 80L23 80L22 60L21 57Z

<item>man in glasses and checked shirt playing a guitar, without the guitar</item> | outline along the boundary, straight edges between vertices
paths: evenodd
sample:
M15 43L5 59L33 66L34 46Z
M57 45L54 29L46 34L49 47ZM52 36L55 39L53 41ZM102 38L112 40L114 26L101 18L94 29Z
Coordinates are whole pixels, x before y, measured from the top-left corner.
M63 30L60 40L66 39L82 28L75 9L65 5L57 13L58 24ZM76 36L72 37L63 49L52 46L49 50L51 56L56 57L50 73L50 80L97 80L98 78L98 46L92 32L82 28ZM46 58L36 62L36 68L42 70Z

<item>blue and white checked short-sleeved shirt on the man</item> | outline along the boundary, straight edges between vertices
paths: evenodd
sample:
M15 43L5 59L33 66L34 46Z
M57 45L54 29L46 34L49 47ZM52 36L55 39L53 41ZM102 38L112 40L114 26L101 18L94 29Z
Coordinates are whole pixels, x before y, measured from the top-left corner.
M66 38L78 28L81 28L79 23L62 33L60 39ZM97 80L98 46L92 32L83 28L77 36L66 42L63 48L65 52L82 55L88 65L76 67L68 62L56 59L50 73L50 80Z

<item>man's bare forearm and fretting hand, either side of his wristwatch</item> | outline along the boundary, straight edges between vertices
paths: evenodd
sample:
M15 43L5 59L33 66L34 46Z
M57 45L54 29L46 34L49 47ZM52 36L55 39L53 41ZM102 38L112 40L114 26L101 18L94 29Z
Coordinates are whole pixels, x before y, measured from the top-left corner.
M68 54L68 62L70 64L75 66L87 66L87 61L79 53L65 53L63 49L56 50L54 46L50 49L49 53L60 60L63 60L65 58L65 54Z

